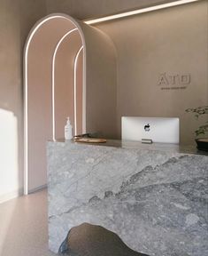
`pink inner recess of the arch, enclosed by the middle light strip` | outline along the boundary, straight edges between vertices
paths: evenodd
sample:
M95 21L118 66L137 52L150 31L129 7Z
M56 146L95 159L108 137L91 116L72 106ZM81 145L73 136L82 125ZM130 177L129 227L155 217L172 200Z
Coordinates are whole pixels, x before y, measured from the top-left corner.
M77 98L77 89L82 92L82 74L80 80L76 79L78 65L75 65L76 55L83 51L81 36L77 30L66 36L61 44L59 44L56 56L54 56L54 140L64 138L65 116L70 116L73 125L73 134L81 134L85 132L85 127L82 127L82 99ZM67 54L66 54L67 52ZM82 59L79 55L77 58ZM79 66L82 67L82 60L79 61ZM75 70L75 73L74 73ZM79 82L79 83L78 83ZM82 94L82 93L81 93ZM79 106L79 108L78 108ZM77 111L77 108L80 110ZM61 115L60 115L61 113ZM81 117L81 118L78 118ZM79 124L76 120L79 119ZM85 126L85 125L84 125Z

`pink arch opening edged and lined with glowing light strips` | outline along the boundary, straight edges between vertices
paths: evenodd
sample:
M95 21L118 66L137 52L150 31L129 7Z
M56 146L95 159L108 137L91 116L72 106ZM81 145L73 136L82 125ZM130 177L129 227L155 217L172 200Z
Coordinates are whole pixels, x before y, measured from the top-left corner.
M46 141L86 132L86 53L76 20L53 14L32 28L24 52L24 194L45 186Z

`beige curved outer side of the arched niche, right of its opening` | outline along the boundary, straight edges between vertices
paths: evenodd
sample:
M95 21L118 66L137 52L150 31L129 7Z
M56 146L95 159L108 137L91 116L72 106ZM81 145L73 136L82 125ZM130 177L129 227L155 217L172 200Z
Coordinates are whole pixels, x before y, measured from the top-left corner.
M116 131L116 50L102 31L81 23L86 41L86 130L105 138Z

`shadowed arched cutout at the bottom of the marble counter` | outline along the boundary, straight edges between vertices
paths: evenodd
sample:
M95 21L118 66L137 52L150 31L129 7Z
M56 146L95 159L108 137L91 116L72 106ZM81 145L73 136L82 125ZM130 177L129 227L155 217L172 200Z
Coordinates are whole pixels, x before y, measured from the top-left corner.
M72 256L148 256L128 248L112 231L89 223L72 228L59 253Z

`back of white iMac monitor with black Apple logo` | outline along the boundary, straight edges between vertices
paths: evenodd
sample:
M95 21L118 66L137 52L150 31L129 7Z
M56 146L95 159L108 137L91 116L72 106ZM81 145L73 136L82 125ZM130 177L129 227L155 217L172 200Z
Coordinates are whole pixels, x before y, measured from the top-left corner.
M179 144L179 118L169 117L121 117L122 140Z

